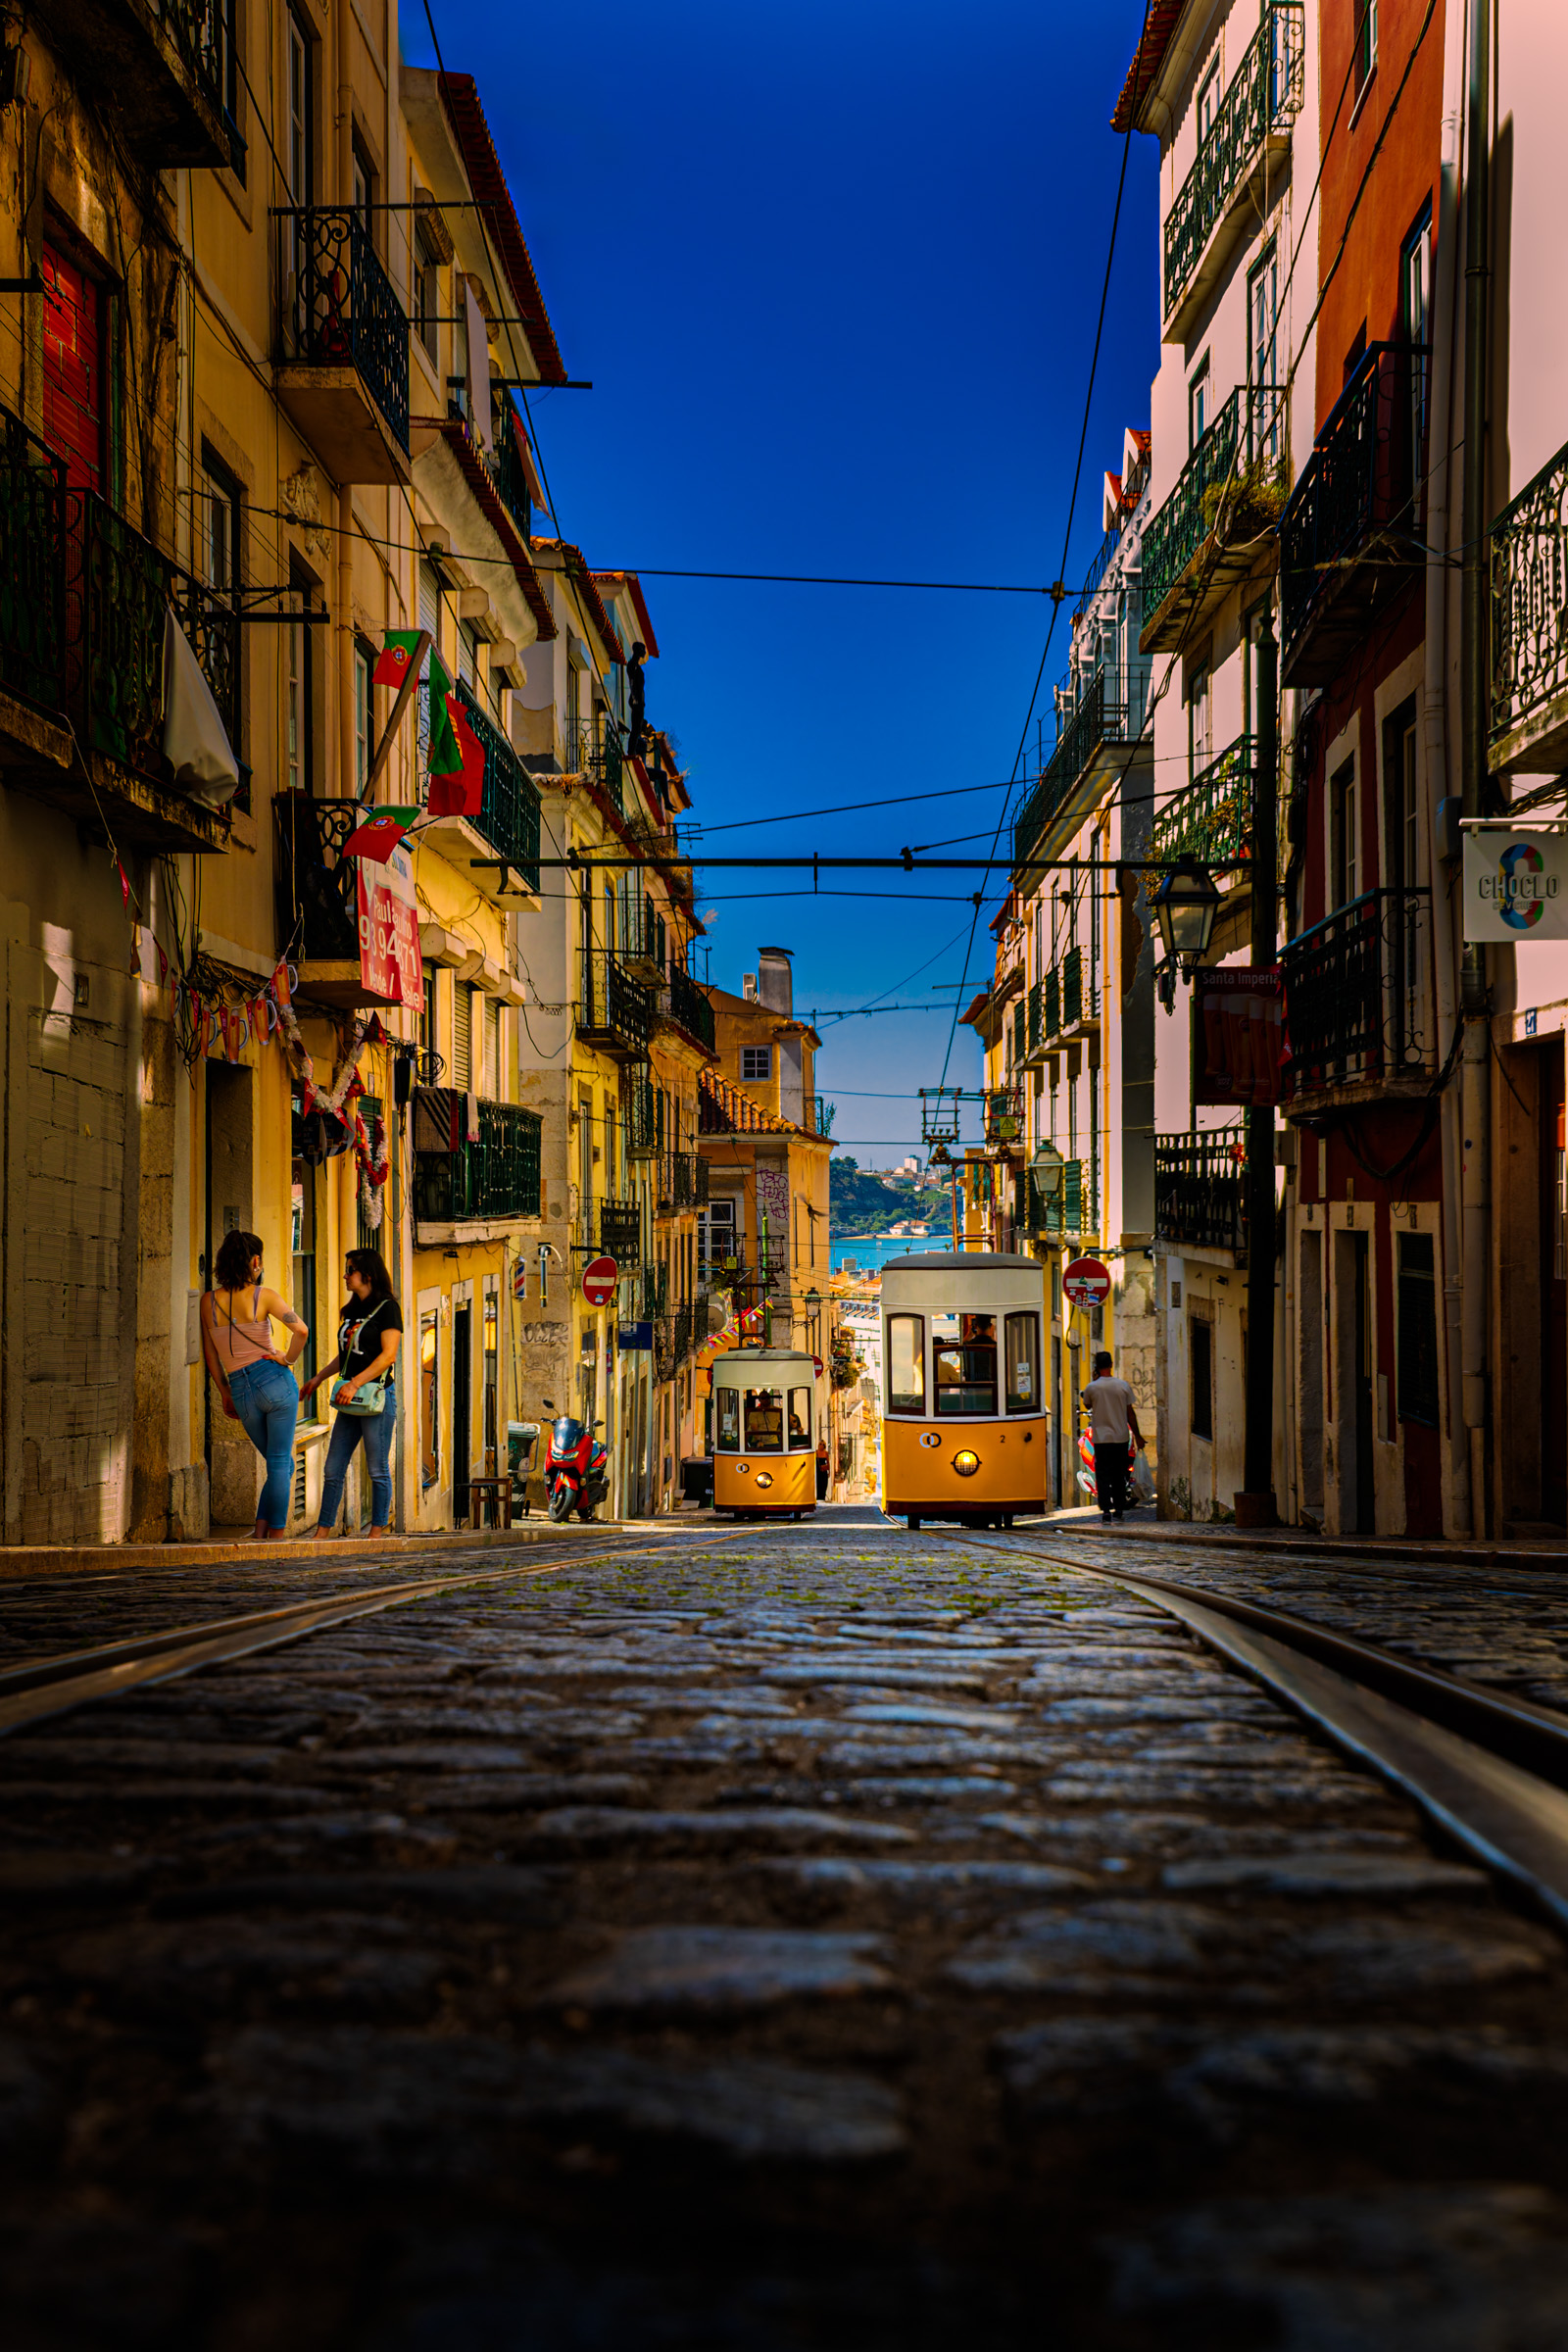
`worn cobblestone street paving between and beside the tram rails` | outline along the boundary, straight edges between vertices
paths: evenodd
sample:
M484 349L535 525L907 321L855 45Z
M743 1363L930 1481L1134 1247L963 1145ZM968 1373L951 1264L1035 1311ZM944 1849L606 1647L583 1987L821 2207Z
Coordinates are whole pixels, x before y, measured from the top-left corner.
M1211 1562L1037 1541L661 1529L12 1736L9 2343L1568 2340L1559 1936L1088 1573Z

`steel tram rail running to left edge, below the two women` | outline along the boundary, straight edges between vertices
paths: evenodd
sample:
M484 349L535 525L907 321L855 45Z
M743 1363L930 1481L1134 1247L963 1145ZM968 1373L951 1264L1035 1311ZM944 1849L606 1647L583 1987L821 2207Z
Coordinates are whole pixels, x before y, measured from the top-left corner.
M724 1531L719 1541L733 1541L733 1534L738 1531ZM148 1682L172 1682L205 1665L226 1665L230 1658L277 1649L282 1642L299 1642L306 1635L327 1632L334 1625L348 1625L353 1618L376 1616L383 1609L397 1609L407 1602L435 1599L447 1592L473 1590L475 1585L494 1585L510 1576L550 1576L567 1566L644 1559L649 1552L665 1550L670 1550L668 1536L658 1543L611 1545L599 1552L578 1552L564 1545L545 1559L510 1559L489 1569L449 1569L444 1576L421 1576L395 1585L360 1585L350 1592L284 1602L275 1609L249 1609L240 1616L212 1618L200 1625L129 1635L122 1642L103 1642L94 1649L28 1658L0 1670L0 1733L16 1731L45 1715L63 1715L68 1708L87 1705L94 1698L115 1698L120 1691L134 1691Z

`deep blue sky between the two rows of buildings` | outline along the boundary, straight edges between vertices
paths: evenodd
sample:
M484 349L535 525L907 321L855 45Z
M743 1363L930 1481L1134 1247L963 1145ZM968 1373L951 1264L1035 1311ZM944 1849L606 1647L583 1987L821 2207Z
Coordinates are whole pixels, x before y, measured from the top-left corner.
M595 383L534 402L559 527L597 567L644 569L649 717L682 746L710 851L987 854L1004 795L954 788L1013 769L1044 597L651 574L1056 576L1138 0L433 5L447 66L480 82L567 367ZM402 40L433 61L407 0ZM1121 428L1150 414L1154 174L1135 139L1070 581ZM1067 612L1044 713L1065 635ZM891 804L717 830L858 800ZM823 1011L818 1087L863 1167L919 1141L912 1096L938 1082L950 1016L825 1011L893 983L898 1004L952 1007L931 983L961 976L978 882L849 875L813 898L809 875L701 877L710 978L738 988L759 941L795 950L797 1009ZM997 898L992 880L971 976ZM947 1080L978 1082L971 1030Z

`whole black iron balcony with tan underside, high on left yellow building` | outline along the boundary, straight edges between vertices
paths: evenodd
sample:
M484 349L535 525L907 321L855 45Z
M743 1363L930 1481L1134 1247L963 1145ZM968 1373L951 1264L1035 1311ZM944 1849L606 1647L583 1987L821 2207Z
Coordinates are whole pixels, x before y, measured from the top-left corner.
M277 207L277 397L336 482L400 482L409 318L360 212Z

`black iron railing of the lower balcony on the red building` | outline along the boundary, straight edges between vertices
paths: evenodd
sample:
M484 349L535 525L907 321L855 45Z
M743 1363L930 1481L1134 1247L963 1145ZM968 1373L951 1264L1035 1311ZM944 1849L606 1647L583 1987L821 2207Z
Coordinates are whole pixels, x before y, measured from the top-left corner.
M1302 931L1279 957L1284 1098L1333 1087L1413 1087L1434 1068L1432 894L1375 889Z

